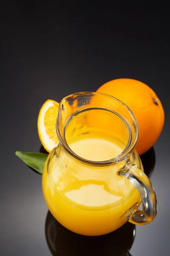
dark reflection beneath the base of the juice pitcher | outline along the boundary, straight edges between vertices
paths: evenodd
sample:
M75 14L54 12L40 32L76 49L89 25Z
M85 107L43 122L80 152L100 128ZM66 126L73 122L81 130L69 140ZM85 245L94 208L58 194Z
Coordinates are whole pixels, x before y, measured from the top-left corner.
M62 227L48 211L45 237L53 256L130 256L128 251L135 238L135 225L127 222L105 236L80 236Z

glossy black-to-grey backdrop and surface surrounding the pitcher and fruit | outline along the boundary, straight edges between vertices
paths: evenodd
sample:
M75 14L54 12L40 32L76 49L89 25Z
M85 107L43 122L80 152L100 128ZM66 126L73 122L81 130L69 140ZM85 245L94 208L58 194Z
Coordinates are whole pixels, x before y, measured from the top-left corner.
M132 78L156 92L165 110L165 125L154 145L156 164L151 175L158 215L151 224L136 227L130 253L168 256L169 11L160 6L105 9L92 3L71 4L6 1L0 8L0 255L51 255L45 239L48 208L41 176L14 155L16 150L39 151L37 116L42 104L79 91L95 91L112 79ZM151 153L143 157L146 168L154 165ZM64 239L60 251L68 247ZM104 256L117 255L107 249L107 239L101 244ZM111 244L114 247L114 239Z

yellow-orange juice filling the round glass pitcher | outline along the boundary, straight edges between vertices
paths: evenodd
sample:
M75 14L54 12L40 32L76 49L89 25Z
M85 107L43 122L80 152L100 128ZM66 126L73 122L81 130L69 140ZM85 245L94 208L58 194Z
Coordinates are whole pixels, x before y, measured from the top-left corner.
M69 146L80 157L93 161L109 160L125 149L116 139L87 134ZM110 233L125 224L140 196L129 180L117 175L123 163L85 166L61 148L56 161L54 151L49 155L48 173L46 162L42 175L44 198L54 217L69 230L87 236Z

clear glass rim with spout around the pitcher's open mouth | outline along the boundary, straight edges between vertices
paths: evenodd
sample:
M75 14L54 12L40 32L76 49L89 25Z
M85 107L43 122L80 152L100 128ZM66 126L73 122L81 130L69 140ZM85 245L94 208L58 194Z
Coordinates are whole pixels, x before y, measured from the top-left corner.
M105 160L105 161L92 161L92 160L87 160L85 158L82 158L80 157L79 155L75 154L74 151L71 150L71 148L68 146L67 143L65 143L65 141L62 139L62 136L60 134L60 131L59 131L59 119L57 118L57 122L56 122L56 130L57 130L57 137L59 139L59 143L62 145L62 147L64 148L64 150L71 156L73 157L75 160L78 160L79 162L81 163L84 163L86 165L90 165L90 166L111 166L111 165L114 165L116 163L119 163L123 160L125 160L133 151L134 149L136 148L136 145L138 143L138 139L139 139L139 125L138 125L138 122L136 120L136 117L135 115L133 114L133 112L130 110L130 108L127 107L127 105L125 103L123 103L122 101L120 101L119 99L111 96L111 95L108 95L108 94L105 94L105 93L97 93L97 92L90 92L90 91L87 91L87 92L79 92L79 93L73 93L73 94L70 94L66 97L64 97L61 102L59 103L59 111L58 111L58 115L57 117L59 116L59 112L60 112L60 105L62 103L63 100L67 99L68 97L70 96L79 96L79 95L85 95L85 94L93 94L93 95L103 95L103 96L108 96L110 97L111 99L114 99L116 100L117 102L121 103L126 109L127 111L130 113L130 115L132 116L133 118L133 122L135 123L135 131L136 131L136 138L135 138L135 141L133 143L133 145L128 145L129 142L127 143L125 149L121 152L121 154L119 154L118 156L110 159L110 160ZM129 133L129 127L128 128L128 133ZM130 134L129 134L130 136Z

